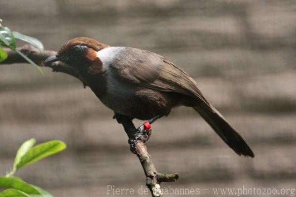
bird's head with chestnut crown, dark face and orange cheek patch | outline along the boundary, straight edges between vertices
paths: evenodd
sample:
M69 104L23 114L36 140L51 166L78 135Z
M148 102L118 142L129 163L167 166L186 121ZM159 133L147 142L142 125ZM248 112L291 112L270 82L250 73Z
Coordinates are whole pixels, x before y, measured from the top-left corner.
M97 59L97 52L109 47L97 40L79 37L66 42L56 55L48 57L44 63L62 61L71 66L90 63Z

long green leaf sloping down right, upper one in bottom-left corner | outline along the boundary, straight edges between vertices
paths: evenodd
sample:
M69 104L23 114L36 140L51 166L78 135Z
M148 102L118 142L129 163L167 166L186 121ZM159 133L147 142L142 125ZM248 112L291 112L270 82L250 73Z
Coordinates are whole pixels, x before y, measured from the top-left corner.
M29 195L38 195L40 197L53 197L51 194L49 194L45 190L35 185L26 183L18 177L5 177L5 176L0 177L0 187L16 189Z

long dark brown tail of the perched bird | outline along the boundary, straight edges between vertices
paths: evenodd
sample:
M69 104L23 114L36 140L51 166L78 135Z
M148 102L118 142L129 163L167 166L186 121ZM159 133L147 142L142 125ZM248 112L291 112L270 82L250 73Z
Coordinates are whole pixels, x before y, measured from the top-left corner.
M235 151L235 153L254 158L254 153L245 140L211 104L202 102L193 108L211 125L216 133L233 151Z

